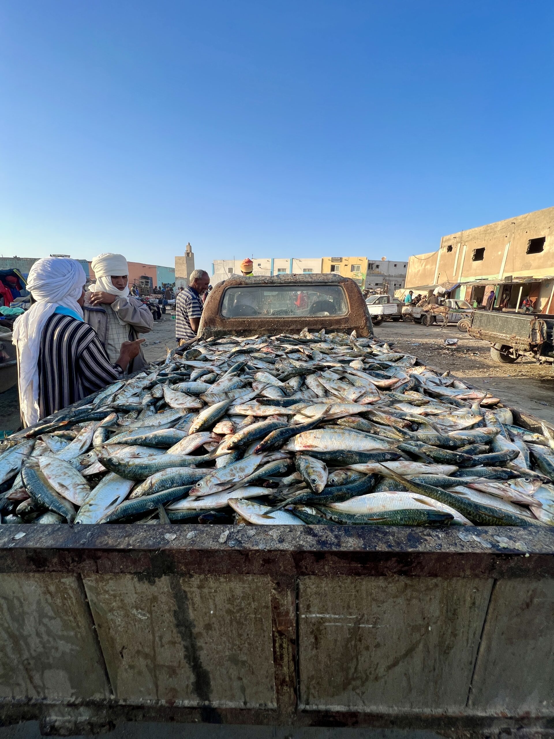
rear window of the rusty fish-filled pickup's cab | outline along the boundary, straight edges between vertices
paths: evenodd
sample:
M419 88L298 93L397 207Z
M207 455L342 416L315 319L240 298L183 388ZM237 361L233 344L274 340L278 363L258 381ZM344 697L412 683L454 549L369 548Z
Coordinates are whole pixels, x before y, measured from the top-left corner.
M253 285L229 287L221 314L234 319L247 316L346 316L348 304L339 285Z

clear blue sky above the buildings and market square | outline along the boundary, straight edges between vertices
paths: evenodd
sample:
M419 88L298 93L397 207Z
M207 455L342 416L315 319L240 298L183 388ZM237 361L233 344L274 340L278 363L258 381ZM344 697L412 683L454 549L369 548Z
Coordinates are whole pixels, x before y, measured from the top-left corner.
M554 205L551 0L4 0L0 253L387 256Z

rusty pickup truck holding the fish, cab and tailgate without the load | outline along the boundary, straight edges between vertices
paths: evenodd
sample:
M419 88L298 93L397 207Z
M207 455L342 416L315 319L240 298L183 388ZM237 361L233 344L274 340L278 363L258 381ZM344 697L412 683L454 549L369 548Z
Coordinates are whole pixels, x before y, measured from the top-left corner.
M204 336L225 336L225 321L235 333L292 333L293 297L302 327L370 332L351 281L290 276L287 297L282 279L214 287ZM241 318L240 306L256 313ZM548 526L6 524L0 552L2 726L551 736Z

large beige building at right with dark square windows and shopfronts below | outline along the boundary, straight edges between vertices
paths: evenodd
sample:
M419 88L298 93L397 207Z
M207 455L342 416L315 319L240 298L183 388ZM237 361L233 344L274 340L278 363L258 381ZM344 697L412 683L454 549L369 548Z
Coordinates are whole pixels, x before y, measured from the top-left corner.
M456 298L478 304L493 289L495 306L514 310L529 296L536 310L550 311L554 208L442 236L437 251L408 260L406 289L431 285L452 287Z

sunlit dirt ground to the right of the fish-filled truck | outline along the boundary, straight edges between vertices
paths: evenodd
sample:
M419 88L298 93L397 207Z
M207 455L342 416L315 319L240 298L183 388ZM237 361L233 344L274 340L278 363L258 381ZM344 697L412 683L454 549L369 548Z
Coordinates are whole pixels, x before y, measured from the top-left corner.
M394 349L415 354L425 364L451 373L460 380L483 388L505 405L554 423L554 369L551 364L519 359L514 364L497 364L490 357L488 341L460 333L455 326L385 321L375 327L378 340L391 341ZM457 338L447 347L445 338Z

